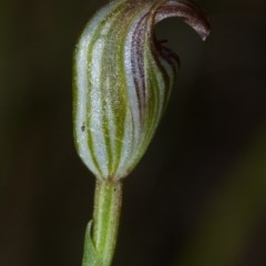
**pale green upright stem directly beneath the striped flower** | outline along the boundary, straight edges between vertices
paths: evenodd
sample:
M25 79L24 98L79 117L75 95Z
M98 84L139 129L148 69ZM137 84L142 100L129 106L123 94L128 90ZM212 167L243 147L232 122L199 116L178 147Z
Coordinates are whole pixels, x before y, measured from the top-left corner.
M117 238L122 202L120 181L96 181L92 241L102 266L110 266Z

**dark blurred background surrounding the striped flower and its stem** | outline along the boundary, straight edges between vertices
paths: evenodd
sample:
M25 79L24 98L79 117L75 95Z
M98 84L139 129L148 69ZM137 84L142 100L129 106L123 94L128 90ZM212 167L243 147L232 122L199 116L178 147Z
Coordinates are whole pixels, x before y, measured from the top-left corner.
M72 54L106 1L0 0L0 265L81 265L94 177L72 137ZM266 2L198 0L158 131L124 182L114 265L266 265Z

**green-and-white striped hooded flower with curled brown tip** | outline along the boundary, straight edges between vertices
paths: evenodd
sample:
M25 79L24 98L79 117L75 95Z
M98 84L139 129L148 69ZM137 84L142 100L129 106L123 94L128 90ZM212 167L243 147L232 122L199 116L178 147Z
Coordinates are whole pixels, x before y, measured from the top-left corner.
M203 11L184 0L115 0L85 27L74 55L74 137L101 180L126 176L143 156L168 102L178 58L154 25L178 17L205 40Z

